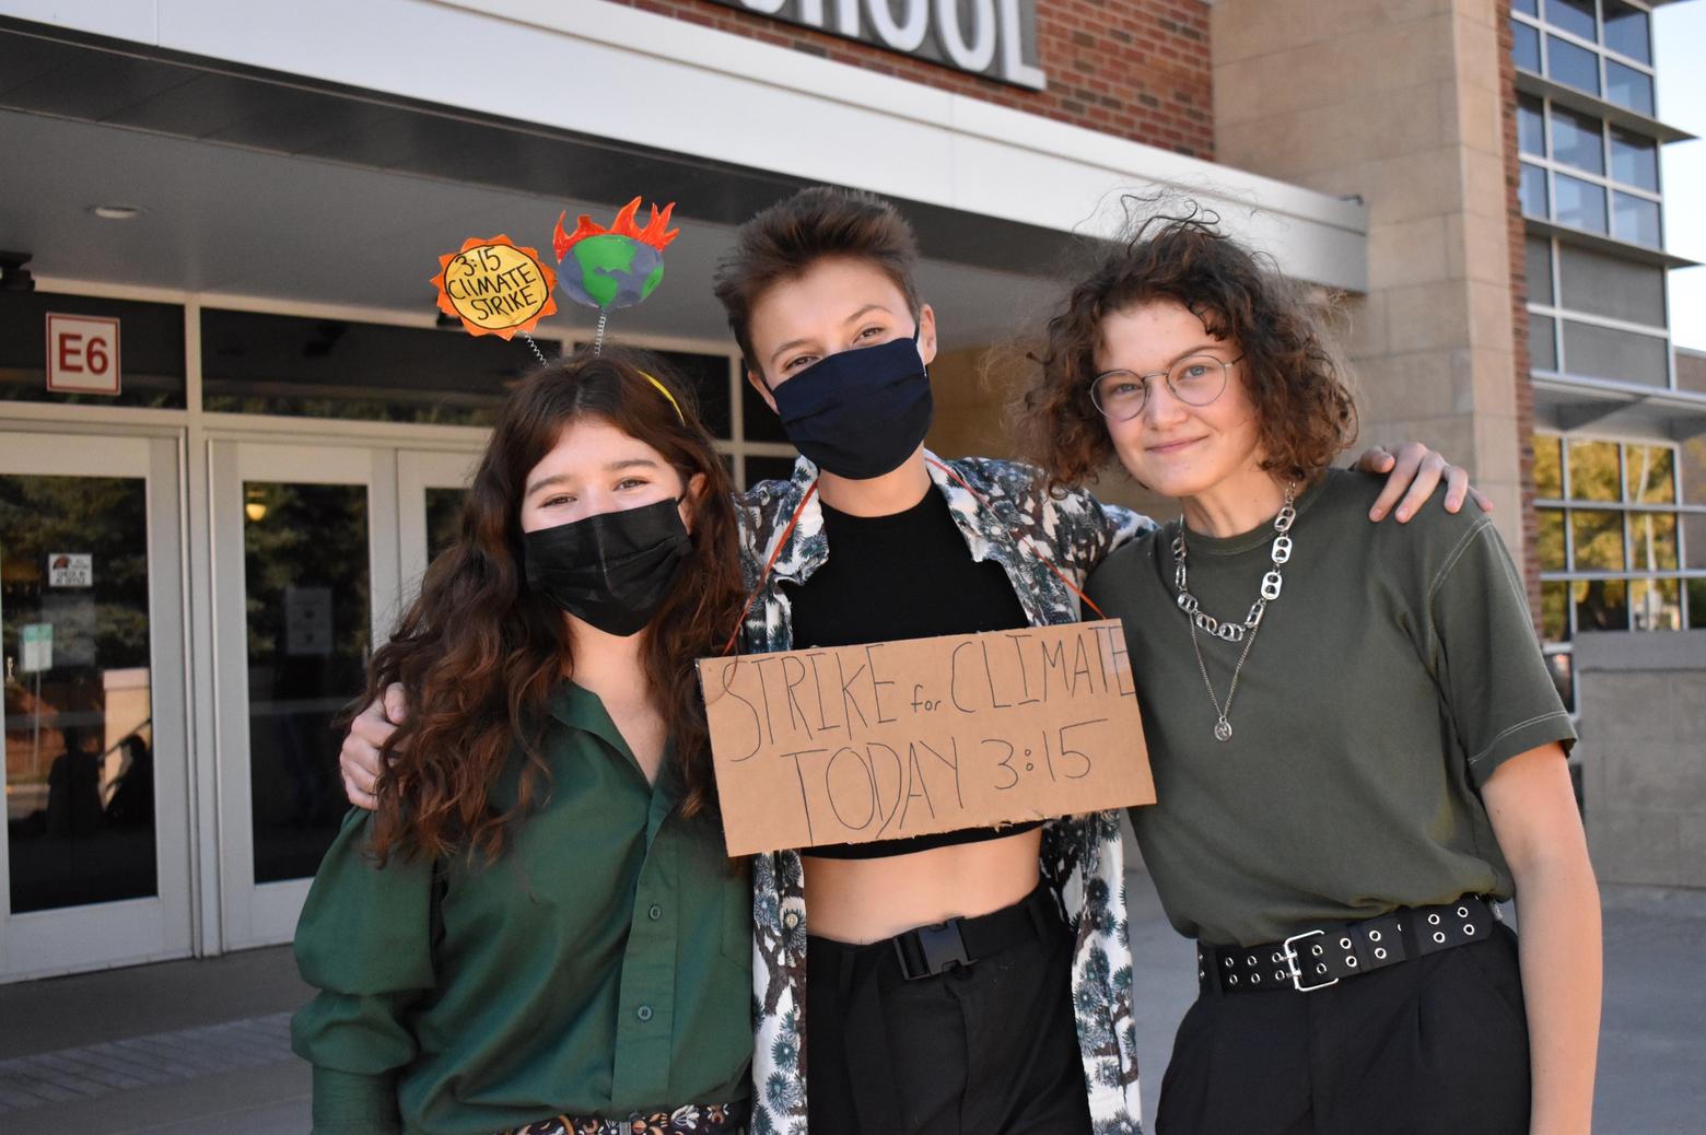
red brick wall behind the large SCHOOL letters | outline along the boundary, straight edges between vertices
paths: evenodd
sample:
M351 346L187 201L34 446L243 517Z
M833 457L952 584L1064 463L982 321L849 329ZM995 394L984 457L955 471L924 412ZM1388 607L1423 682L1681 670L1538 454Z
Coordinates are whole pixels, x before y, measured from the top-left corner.
M1215 155L1206 0L1037 0L1047 90L841 39L710 0L611 0L1165 150Z

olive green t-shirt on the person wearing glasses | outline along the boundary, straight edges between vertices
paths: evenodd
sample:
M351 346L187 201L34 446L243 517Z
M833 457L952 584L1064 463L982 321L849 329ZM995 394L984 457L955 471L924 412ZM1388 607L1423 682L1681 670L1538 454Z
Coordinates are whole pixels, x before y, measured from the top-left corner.
M1184 935L1256 946L1396 906L1512 894L1479 787L1575 732L1491 519L1452 515L1435 497L1409 524L1372 524L1382 483L1331 471L1298 498L1283 591L1225 742L1174 591L1179 522L1088 580L1097 606L1124 620L1157 795L1131 821ZM1271 522L1186 534L1204 611L1244 620L1273 538ZM1225 703L1244 647L1198 642Z

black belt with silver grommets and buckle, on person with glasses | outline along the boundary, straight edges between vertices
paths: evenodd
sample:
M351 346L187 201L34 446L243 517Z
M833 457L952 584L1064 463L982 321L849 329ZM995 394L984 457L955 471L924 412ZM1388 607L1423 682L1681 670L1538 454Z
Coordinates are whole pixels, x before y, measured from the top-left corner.
M1223 993L1312 993L1411 957L1479 942L1503 922L1476 894L1440 906L1401 906L1390 915L1293 934L1268 946L1196 946L1198 983Z

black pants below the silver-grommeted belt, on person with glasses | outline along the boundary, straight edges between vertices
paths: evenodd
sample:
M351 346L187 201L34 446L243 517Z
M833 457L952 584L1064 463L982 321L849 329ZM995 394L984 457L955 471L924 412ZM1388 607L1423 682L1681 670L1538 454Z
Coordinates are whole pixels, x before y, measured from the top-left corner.
M1517 939L1315 993L1206 985L1179 1024L1157 1135L1527 1135Z

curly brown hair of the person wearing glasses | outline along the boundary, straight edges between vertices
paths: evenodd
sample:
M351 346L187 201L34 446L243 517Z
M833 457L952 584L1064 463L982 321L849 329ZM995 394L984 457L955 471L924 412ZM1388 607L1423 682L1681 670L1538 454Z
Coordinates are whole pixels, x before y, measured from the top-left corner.
M1356 440L1356 403L1326 331L1326 304L1220 232L1215 213L1189 205L1102 246L1049 319L1041 355L1029 355L1039 370L1018 393L1012 423L1051 490L1092 481L1114 459L1090 399L1102 319L1153 300L1184 306L1211 336L1244 352L1264 469L1310 481Z

